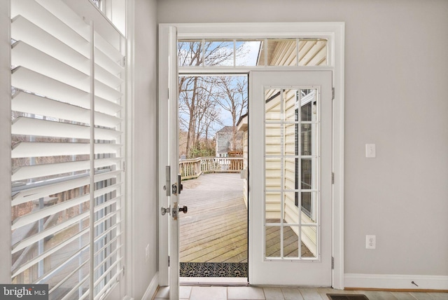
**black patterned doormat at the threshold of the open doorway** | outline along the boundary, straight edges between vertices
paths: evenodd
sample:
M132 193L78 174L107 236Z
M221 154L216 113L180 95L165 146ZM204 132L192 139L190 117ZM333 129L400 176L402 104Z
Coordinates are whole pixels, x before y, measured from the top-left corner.
M247 277L247 263L181 262L181 277Z

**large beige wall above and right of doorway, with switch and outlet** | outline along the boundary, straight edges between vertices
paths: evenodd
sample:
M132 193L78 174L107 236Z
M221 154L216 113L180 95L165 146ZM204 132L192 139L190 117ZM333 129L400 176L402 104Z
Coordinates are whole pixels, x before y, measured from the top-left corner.
M448 1L158 1L158 22L309 21L346 24L345 273L448 275Z

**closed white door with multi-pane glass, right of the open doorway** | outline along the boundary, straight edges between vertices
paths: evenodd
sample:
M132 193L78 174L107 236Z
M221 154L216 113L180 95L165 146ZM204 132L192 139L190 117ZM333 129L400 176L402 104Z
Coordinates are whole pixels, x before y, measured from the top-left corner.
M332 72L253 71L249 280L331 286Z

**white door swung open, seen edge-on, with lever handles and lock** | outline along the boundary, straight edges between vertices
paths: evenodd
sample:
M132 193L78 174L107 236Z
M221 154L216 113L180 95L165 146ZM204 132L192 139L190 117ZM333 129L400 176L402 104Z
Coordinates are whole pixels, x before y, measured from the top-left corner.
M159 50L169 53L159 65L159 282L169 286L169 299L179 299L179 125L176 27L160 27Z

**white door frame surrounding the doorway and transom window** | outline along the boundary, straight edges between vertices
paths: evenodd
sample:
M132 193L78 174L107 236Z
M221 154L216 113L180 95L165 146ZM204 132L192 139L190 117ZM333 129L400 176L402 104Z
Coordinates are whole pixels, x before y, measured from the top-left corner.
M167 111L164 110L167 109L165 104L168 102L167 87L169 83L177 79L177 76L183 72L221 73L223 71L231 71L233 73L247 74L254 69L282 69L279 67L220 67L215 69L210 67L195 67L189 68L188 70L179 68L179 74L169 74L169 27L176 28L179 39L281 39L300 37L328 39L328 67L292 67L291 69L302 71L330 69L333 72L335 97L333 100L332 124L332 170L335 174L335 181L332 186L332 257L334 257L332 287L335 289L344 289L344 22L160 24L158 76L159 120L167 116ZM170 76L172 76L171 81ZM166 128L160 128L159 123L159 137L166 136L164 135L164 130ZM161 155L163 156L163 152L167 151L167 149L160 149L161 146L159 143L159 170L165 170L165 161ZM162 195L163 184L160 175L158 186L159 195ZM159 238L163 239L167 234L167 227L162 226L160 223L159 226ZM165 246L167 250L168 245ZM167 268L167 265L163 264L161 255L165 251L163 248L165 246L160 245L159 249L159 278L161 285L167 285L168 283L167 271L164 270L165 266Z

